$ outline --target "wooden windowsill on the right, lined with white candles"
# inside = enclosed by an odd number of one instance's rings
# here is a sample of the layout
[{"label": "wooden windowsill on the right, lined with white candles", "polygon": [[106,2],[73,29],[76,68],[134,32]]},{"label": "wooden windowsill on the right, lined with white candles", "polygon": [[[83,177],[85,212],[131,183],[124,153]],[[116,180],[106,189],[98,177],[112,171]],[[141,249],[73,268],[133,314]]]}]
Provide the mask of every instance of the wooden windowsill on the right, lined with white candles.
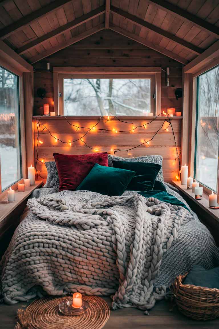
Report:
[{"label": "wooden windowsill on the right, lined with white candles", "polygon": [[193,193],[192,190],[187,190],[186,185],[181,185],[181,182],[178,181],[172,181],[172,185],[183,192],[189,199],[199,205],[199,207],[202,208],[208,215],[219,222],[219,209],[209,208],[209,195],[207,193],[203,191],[202,199],[196,200],[195,193]]}]

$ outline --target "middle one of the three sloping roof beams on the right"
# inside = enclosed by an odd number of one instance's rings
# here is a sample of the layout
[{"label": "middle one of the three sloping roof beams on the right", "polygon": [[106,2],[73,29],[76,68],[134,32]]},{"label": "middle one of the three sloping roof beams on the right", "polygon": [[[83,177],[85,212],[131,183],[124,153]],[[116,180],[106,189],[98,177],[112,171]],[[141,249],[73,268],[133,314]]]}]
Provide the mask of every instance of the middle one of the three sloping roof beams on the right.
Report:
[{"label": "middle one of the three sloping roof beams on the right", "polygon": [[123,17],[125,19],[127,19],[128,21],[130,21],[131,23],[135,24],[135,25],[138,25],[140,27],[144,27],[146,28],[147,30],[151,30],[161,36],[163,36],[164,38],[168,39],[168,40],[171,40],[171,41],[174,41],[178,44],[180,44],[181,46],[183,46],[184,48],[188,49],[189,51],[192,51],[193,53],[197,54],[197,55],[200,55],[201,53],[203,53],[203,49],[199,48],[199,47],[196,47],[195,45],[181,39],[181,38],[178,38],[176,36],[174,36],[173,34],[167,32],[167,31],[164,31],[162,29],[160,29],[159,27],[153,25],[153,24],[150,24],[146,21],[144,21],[143,19],[139,18],[139,17],[136,17],[130,13],[127,13],[127,12],[124,12],[123,10],[119,9],[119,8],[116,8],[116,7],[111,7],[111,12],[114,13],[114,14],[117,14],[119,15],[120,17]]}]

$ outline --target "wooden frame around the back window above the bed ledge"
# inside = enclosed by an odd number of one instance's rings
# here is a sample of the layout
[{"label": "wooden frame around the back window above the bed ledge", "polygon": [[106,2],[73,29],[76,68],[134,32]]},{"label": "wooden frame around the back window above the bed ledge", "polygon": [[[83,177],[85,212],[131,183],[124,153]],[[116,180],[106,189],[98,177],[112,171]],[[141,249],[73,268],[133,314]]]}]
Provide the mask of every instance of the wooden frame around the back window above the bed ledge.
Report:
[{"label": "wooden frame around the back window above the bed ledge", "polygon": [[[151,112],[161,112],[161,67],[54,67],[54,111],[64,115],[63,84],[65,78],[115,78],[115,79],[151,79]],[[61,93],[61,97],[59,97]],[[75,116],[77,117],[77,116]],[[89,117],[88,115],[81,118]],[[94,116],[95,117],[95,116]],[[125,116],[124,116],[125,117]],[[128,116],[127,116],[128,117]],[[137,118],[138,116],[135,116]]]}]

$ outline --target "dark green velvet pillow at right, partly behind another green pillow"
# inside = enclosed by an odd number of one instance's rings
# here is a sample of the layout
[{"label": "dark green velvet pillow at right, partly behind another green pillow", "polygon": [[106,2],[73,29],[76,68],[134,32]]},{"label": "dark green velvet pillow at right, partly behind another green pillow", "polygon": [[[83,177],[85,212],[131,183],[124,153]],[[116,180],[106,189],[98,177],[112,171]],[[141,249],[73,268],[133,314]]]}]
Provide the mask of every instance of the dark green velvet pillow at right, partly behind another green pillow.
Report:
[{"label": "dark green velvet pillow at right, partly behind another green pillow", "polygon": [[160,164],[147,162],[115,161],[113,167],[136,171],[135,176],[127,186],[130,191],[150,191],[153,190],[154,182],[161,169]]}]

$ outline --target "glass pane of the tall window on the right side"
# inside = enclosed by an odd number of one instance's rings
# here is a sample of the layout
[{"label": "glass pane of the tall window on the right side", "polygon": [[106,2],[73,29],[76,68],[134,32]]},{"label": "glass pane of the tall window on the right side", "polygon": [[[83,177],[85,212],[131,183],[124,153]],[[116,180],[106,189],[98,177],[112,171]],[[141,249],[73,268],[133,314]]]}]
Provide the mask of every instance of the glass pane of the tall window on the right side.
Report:
[{"label": "glass pane of the tall window on the right side", "polygon": [[219,149],[219,66],[198,77],[196,178],[217,189]]}]

